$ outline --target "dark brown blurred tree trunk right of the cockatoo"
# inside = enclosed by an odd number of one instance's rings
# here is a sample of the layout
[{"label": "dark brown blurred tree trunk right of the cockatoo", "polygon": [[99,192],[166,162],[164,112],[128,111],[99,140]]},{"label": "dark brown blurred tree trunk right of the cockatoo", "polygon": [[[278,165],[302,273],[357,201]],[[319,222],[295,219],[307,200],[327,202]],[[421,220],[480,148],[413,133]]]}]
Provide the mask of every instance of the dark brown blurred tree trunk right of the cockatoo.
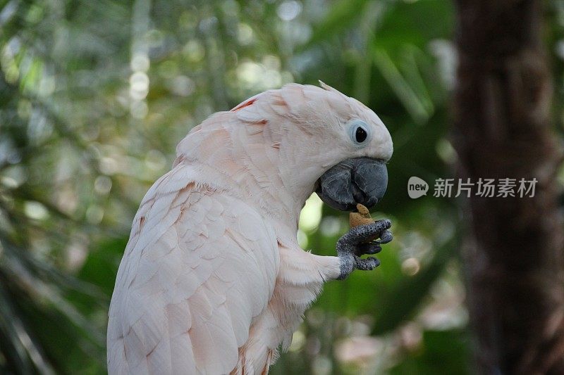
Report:
[{"label": "dark brown blurred tree trunk right of the cockatoo", "polygon": [[472,196],[465,214],[480,374],[564,374],[564,227],[541,1],[457,0],[459,174],[536,177],[532,198]]}]

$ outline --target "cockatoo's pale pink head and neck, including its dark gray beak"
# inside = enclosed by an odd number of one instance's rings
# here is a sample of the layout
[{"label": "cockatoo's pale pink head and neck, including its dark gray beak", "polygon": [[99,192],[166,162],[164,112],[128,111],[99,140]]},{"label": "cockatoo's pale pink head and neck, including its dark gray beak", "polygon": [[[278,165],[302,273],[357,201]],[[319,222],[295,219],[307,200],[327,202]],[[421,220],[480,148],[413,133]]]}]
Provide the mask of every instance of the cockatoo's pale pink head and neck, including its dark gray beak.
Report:
[{"label": "cockatoo's pale pink head and neck, including its dark gray beak", "polygon": [[388,129],[359,101],[323,83],[286,84],[192,129],[176,163],[207,165],[257,204],[299,214],[314,191],[338,210],[376,204],[392,151]]}]

